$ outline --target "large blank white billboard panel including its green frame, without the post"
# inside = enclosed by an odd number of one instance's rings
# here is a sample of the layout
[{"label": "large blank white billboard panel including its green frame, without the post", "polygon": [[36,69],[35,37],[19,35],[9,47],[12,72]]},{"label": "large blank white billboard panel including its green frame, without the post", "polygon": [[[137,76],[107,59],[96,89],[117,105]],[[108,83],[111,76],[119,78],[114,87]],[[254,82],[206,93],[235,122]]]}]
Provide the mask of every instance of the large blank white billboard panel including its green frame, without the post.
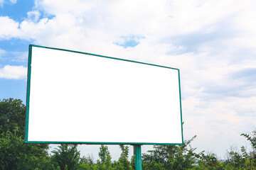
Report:
[{"label": "large blank white billboard panel including its green frame, without the post", "polygon": [[26,142],[182,145],[178,69],[30,45]]}]

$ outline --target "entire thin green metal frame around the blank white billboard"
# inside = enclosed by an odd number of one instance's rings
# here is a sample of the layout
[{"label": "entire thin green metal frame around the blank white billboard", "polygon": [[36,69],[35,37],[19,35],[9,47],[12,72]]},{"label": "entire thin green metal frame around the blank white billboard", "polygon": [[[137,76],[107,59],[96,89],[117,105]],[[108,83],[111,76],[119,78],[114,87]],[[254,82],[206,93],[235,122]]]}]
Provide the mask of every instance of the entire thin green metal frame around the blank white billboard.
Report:
[{"label": "entire thin green metal frame around the blank white billboard", "polygon": [[[182,111],[181,111],[181,136],[182,136],[182,142],[181,143],[145,143],[145,142],[53,142],[53,141],[28,141],[28,116],[29,116],[29,96],[30,96],[30,84],[31,84],[31,55],[32,55],[32,47],[42,47],[42,48],[47,48],[47,49],[52,49],[52,50],[61,50],[61,51],[67,51],[67,52],[75,52],[75,53],[80,53],[84,55],[92,55],[96,57],[105,57],[105,58],[110,58],[114,60],[122,60],[126,62],[134,62],[138,64],[147,64],[151,66],[156,66],[156,67],[164,67],[167,69],[176,69],[172,67],[166,67],[166,66],[160,66],[157,64],[149,64],[145,62],[136,62],[132,60],[124,60],[124,59],[119,59],[115,57],[107,57],[103,55],[95,55],[92,53],[88,52],[78,52],[74,50],[65,50],[65,49],[60,49],[60,48],[55,48],[55,47],[44,47],[41,45],[29,45],[29,52],[28,52],[28,80],[27,80],[27,97],[26,97],[26,135],[25,135],[25,143],[45,143],[45,144],[87,144],[87,145],[183,145],[183,125],[182,125]],[[178,70],[178,85],[179,85],[179,96],[180,96],[180,108],[181,108],[181,82],[180,82],[180,72]]]}]

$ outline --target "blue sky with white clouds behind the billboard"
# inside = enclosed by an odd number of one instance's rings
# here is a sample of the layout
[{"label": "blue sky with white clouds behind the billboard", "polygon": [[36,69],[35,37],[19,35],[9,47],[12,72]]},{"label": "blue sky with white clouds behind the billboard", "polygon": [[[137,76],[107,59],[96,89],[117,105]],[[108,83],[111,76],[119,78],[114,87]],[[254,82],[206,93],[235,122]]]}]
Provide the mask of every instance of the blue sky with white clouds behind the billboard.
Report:
[{"label": "blue sky with white clouds behind the billboard", "polygon": [[[1,99],[25,103],[29,44],[178,68],[184,139],[220,159],[250,149],[240,134],[256,125],[254,0],[0,0]],[[79,149],[98,159],[98,145]]]}]

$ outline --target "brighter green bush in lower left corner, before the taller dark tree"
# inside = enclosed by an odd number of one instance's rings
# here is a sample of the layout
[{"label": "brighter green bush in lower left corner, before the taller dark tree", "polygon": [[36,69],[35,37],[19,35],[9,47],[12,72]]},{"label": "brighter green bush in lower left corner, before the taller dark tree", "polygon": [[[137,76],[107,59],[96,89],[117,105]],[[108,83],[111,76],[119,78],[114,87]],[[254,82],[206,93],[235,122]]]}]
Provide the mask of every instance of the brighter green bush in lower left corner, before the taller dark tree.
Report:
[{"label": "brighter green bush in lower left corner, before the taller dark tree", "polygon": [[48,152],[45,146],[25,144],[16,131],[1,134],[0,150],[0,169],[47,168]]}]

